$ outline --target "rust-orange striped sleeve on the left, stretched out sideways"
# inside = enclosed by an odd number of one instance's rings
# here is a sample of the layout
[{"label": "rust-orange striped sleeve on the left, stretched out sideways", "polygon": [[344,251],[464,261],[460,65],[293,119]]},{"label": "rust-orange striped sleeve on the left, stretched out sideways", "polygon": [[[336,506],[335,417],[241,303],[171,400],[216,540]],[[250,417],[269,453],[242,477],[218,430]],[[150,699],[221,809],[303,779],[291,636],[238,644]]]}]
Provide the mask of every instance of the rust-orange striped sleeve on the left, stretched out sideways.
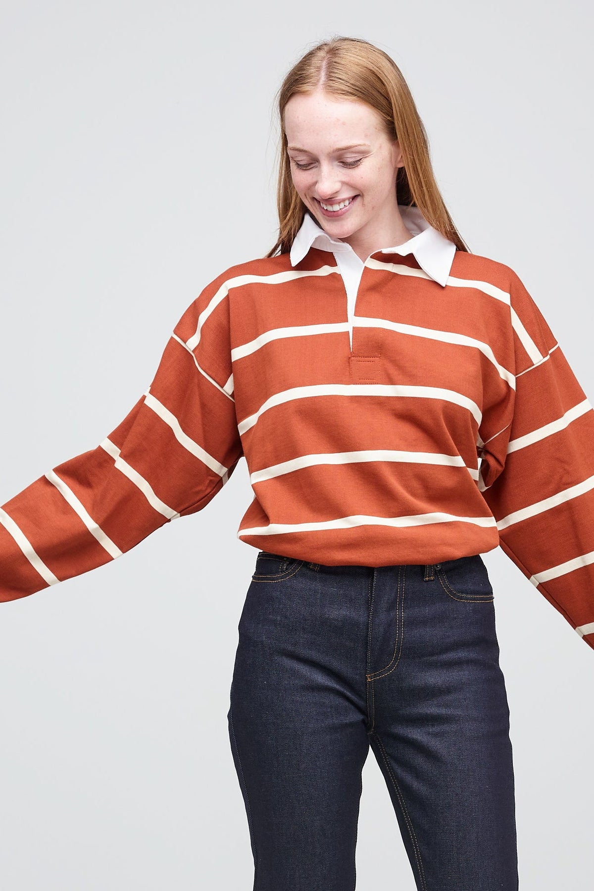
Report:
[{"label": "rust-orange striped sleeve on the left, stretched out sideways", "polygon": [[0,508],[0,601],[114,560],[224,486],[242,447],[219,291],[211,282],[188,307],[150,388],[99,446]]}]

